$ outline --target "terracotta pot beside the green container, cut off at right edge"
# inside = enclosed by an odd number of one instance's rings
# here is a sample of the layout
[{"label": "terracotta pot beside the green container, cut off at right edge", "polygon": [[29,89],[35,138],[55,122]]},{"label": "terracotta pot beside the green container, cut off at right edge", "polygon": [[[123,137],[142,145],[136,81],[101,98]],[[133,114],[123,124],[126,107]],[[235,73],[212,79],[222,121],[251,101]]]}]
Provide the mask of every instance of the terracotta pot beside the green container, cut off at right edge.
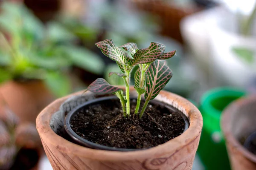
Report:
[{"label": "terracotta pot beside the green container, cut off at right edge", "polygon": [[232,170],[255,170],[256,155],[241,144],[241,139],[256,131],[256,96],[239,99],[224,110],[221,129],[226,138]]}]

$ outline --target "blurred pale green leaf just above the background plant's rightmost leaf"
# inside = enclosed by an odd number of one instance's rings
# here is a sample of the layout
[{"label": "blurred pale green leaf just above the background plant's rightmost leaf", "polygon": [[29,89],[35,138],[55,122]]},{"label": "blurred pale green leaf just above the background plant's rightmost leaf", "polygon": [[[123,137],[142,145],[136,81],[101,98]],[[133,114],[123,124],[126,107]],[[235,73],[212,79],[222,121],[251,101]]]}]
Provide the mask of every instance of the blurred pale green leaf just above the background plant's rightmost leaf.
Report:
[{"label": "blurred pale green leaf just above the background plant's rightmost leaf", "polygon": [[47,33],[48,38],[55,42],[66,42],[76,39],[74,34],[55,22],[48,24]]}]

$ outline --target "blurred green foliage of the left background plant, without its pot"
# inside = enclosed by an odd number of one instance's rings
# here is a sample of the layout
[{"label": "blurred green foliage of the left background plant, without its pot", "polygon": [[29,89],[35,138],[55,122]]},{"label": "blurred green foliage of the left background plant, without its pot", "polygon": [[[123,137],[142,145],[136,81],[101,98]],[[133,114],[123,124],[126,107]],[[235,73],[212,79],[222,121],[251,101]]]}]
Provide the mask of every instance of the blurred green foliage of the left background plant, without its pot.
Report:
[{"label": "blurred green foliage of the left background plant, without its pot", "polygon": [[93,74],[102,74],[104,69],[98,55],[74,46],[74,42],[76,36],[60,24],[44,26],[23,5],[2,3],[0,82],[40,79],[56,96],[68,94],[71,87],[65,73],[73,65]]}]

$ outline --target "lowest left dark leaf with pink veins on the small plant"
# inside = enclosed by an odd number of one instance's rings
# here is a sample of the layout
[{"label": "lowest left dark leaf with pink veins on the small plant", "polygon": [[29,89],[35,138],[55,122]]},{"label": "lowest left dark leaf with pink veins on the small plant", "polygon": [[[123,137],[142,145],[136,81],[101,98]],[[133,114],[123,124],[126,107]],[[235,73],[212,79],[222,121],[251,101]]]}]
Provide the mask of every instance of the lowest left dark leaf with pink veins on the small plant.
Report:
[{"label": "lowest left dark leaf with pink veins on the small plant", "polygon": [[91,91],[96,94],[112,94],[116,91],[122,91],[122,89],[110,85],[105,79],[98,78],[88,86],[86,91]]}]

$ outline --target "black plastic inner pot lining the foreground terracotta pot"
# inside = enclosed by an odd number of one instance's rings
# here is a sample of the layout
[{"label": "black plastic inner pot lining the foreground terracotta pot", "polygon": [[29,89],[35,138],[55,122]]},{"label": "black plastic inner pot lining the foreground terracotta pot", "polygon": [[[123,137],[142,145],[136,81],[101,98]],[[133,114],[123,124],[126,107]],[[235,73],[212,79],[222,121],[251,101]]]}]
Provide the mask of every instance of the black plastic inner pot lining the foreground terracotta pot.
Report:
[{"label": "black plastic inner pot lining the foreground terracotta pot", "polygon": [[[65,118],[64,128],[65,128],[67,134],[73,140],[72,142],[74,142],[76,144],[80,144],[80,145],[85,146],[85,147],[90,147],[90,148],[93,148],[93,149],[100,149],[100,150],[134,151],[134,150],[144,150],[144,149],[147,149],[147,148],[142,148],[142,149],[126,149],[126,148],[109,147],[109,146],[104,146],[104,145],[101,145],[101,144],[96,144],[96,143],[90,142],[90,141],[82,138],[81,136],[79,136],[78,134],[76,134],[72,130],[72,128],[70,126],[70,120],[72,120],[73,117],[76,116],[76,114],[81,109],[83,109],[87,105],[96,105],[96,104],[99,104],[99,103],[101,103],[103,101],[112,100],[112,99],[118,99],[118,98],[116,96],[108,96],[108,97],[101,97],[101,98],[98,98],[98,99],[93,99],[93,100],[90,100],[88,102],[84,102],[82,105],[77,106],[72,111],[70,111],[70,113],[67,114],[67,116]],[[159,102],[157,100],[151,100],[149,103],[156,103],[158,105],[164,105],[170,111],[176,111],[177,113],[180,113],[180,115],[182,116],[182,118],[183,118],[183,120],[185,122],[184,131],[189,128],[189,121],[188,121],[187,117],[182,112],[178,111],[177,109],[173,108],[170,105],[167,105],[167,104],[165,104],[163,102]],[[183,133],[184,133],[184,131],[183,131]]]}]

